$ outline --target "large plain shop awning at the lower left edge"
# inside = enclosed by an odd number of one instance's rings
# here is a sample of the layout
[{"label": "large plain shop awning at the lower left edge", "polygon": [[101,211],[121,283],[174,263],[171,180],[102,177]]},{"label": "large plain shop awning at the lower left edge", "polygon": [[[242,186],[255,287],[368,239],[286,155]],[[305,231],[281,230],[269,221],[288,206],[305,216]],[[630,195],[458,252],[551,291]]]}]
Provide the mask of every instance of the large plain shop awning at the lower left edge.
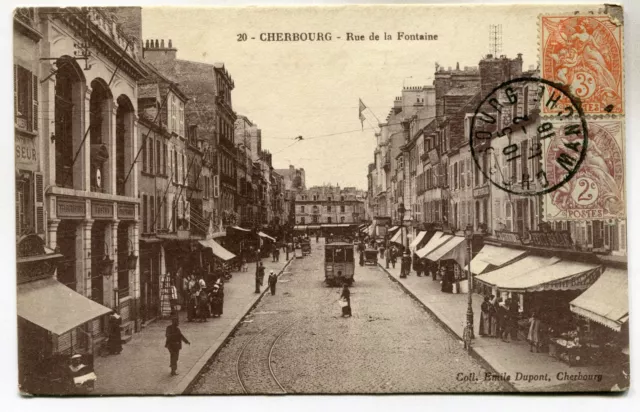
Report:
[{"label": "large plain shop awning at the lower left edge", "polygon": [[109,312],[53,278],[18,285],[18,316],[56,335]]}]

